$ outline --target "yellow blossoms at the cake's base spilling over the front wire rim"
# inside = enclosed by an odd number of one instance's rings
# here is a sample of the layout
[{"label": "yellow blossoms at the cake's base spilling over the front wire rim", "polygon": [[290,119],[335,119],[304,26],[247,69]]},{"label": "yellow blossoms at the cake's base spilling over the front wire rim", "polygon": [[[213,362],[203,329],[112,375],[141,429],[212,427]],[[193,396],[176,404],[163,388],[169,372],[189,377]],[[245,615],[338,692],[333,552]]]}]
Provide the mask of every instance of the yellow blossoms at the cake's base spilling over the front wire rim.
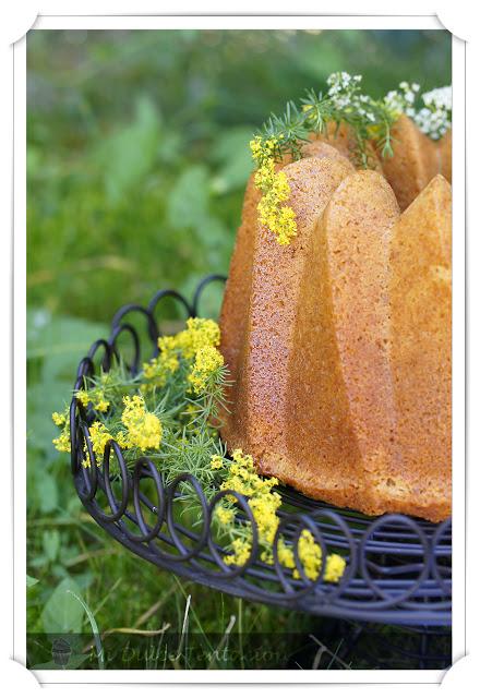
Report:
[{"label": "yellow blossoms at the cake's base spilling over the front wire rim", "polygon": [[[212,456],[211,467],[214,470],[224,467],[221,456]],[[236,449],[232,453],[232,460],[229,462],[228,474],[220,484],[220,490],[235,490],[240,494],[249,497],[250,508],[255,518],[259,542],[265,549],[262,553],[262,559],[272,564],[273,554],[272,545],[275,539],[280,520],[277,516],[277,509],[281,504],[281,497],[278,492],[272,492],[272,489],[278,484],[276,478],[261,478],[253,465],[253,458],[243,455],[242,450]],[[235,497],[232,497],[233,500]],[[226,514],[224,514],[224,512]],[[228,509],[217,508],[217,516],[220,522],[228,525],[231,518],[227,518],[227,514],[232,513]],[[225,557],[227,564],[236,564],[241,566],[247,559],[251,551],[251,543],[244,539],[235,539],[232,541],[233,553]],[[293,577],[300,578],[298,569],[296,569],[293,551],[286,545],[283,538],[278,541],[278,559],[281,565],[293,569]],[[303,529],[299,538],[298,553],[302,563],[305,576],[309,579],[317,579],[322,568],[322,550],[313,534],[308,529]],[[329,582],[337,582],[345,571],[345,559],[337,554],[328,555],[326,558],[326,568],[324,579]]]}]

